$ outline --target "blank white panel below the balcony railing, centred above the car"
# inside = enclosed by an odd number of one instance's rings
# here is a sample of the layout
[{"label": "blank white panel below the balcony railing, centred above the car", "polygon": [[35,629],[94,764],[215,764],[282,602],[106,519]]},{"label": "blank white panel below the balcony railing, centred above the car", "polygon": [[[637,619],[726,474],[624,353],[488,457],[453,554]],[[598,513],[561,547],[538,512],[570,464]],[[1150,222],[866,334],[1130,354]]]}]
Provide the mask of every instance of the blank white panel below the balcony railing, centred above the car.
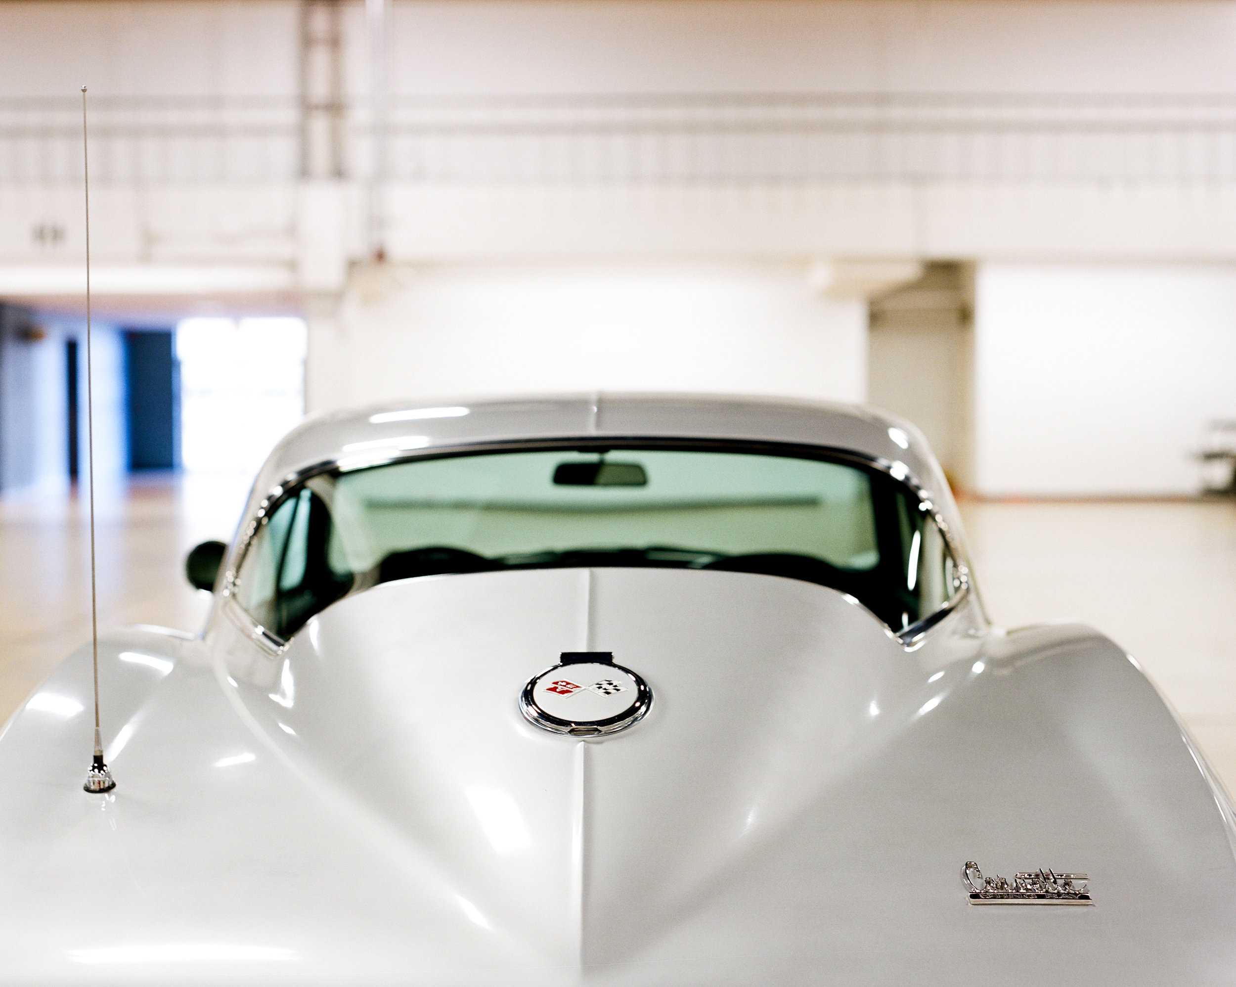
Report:
[{"label": "blank white panel below the balcony railing, centred above the car", "polygon": [[[874,183],[389,189],[387,246],[408,261],[531,256],[905,256],[913,195]],[[1236,246],[1236,245],[1234,245]]]}]

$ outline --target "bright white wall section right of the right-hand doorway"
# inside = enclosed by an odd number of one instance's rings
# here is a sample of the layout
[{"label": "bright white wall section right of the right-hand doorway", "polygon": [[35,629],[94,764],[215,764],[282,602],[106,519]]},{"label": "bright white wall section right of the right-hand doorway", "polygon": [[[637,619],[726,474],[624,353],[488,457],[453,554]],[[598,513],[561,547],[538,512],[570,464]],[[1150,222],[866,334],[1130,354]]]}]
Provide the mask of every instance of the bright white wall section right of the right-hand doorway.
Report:
[{"label": "bright white wall section right of the right-hand doorway", "polygon": [[1236,267],[980,265],[976,489],[1193,494],[1234,371]]}]

